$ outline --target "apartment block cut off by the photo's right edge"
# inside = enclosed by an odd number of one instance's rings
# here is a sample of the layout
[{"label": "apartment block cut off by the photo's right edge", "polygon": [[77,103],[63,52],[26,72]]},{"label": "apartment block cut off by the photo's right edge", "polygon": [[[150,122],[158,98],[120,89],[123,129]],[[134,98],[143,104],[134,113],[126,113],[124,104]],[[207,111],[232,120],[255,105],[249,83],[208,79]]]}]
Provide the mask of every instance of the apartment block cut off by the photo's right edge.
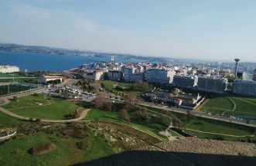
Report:
[{"label": "apartment block cut off by the photo's right edge", "polygon": [[256,97],[256,81],[234,80],[233,93],[237,95]]}]

